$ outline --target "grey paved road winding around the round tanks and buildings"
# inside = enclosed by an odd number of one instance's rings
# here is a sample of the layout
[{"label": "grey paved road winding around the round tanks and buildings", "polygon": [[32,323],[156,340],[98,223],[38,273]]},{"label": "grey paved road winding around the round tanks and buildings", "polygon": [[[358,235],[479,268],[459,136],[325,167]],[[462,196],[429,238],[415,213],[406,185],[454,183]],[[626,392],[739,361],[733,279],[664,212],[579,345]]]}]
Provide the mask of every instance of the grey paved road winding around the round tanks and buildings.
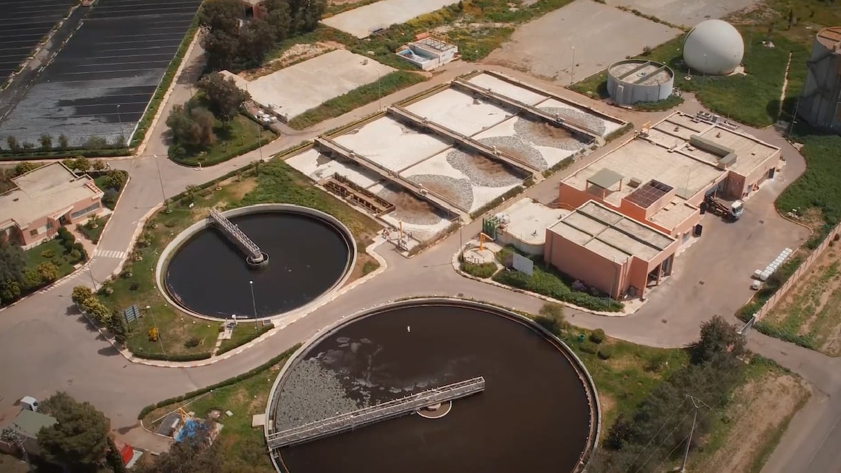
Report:
[{"label": "grey paved road winding around the round tanks and buildings", "polygon": [[[431,83],[445,82],[470,69],[473,69],[473,65],[454,63],[431,82],[421,83],[419,86],[395,93],[385,98],[384,102],[393,103],[431,87]],[[190,68],[187,69],[187,72],[189,71]],[[518,72],[506,72],[526,78]],[[528,78],[528,80],[537,82],[533,78]],[[172,97],[163,110],[163,116],[166,116],[173,104],[181,103],[189,97],[188,83],[189,81],[185,80],[178,81]],[[553,87],[546,86],[546,88]],[[558,90],[558,93],[562,93],[561,90]],[[584,98],[579,99],[584,100]],[[686,106],[688,109],[692,107],[691,104]],[[320,125],[317,130],[283,136],[278,141],[264,146],[263,156],[269,157],[299,141],[316,136],[321,130],[328,130],[336,125],[350,122],[372,113],[375,109],[376,104],[372,104],[338,119],[329,120]],[[657,120],[657,117],[658,114],[650,114],[644,120]],[[641,117],[632,118],[637,121]],[[180,167],[164,157],[167,147],[162,138],[162,128],[165,128],[165,125],[161,121],[151,134],[150,143],[145,148],[143,156],[112,161],[112,167],[128,171],[131,180],[103,233],[99,249],[125,251],[130,246],[138,221],[161,203],[164,191],[167,196],[176,194],[189,183],[204,183],[261,156],[260,151],[251,151],[242,157],[209,169],[195,170]],[[802,159],[799,158],[798,161],[799,155],[796,151],[793,151],[793,148],[781,140],[773,130],[754,130],[753,132],[766,141],[772,141],[784,148],[785,156],[789,157],[789,166],[785,168],[786,179],[791,180],[802,173],[805,168]],[[567,175],[585,162],[601,156],[616,146],[619,141],[586,157],[582,162],[576,163],[573,169],[563,174]],[[561,177],[561,175],[556,175],[547,179],[533,186],[527,194],[543,202],[549,202],[557,193],[556,185]],[[764,200],[768,204],[783,187],[784,185],[769,186],[761,190],[754,199],[760,202]],[[755,207],[759,208],[759,206]],[[765,207],[770,208],[770,205],[765,205]],[[770,210],[763,211],[761,215],[755,215],[755,218],[769,220],[779,217]],[[463,235],[466,237],[476,234],[480,226],[481,221],[465,226]],[[709,238],[706,239],[706,241],[709,240]],[[701,239],[701,242],[704,241]],[[0,367],[0,379],[3,379],[3,383],[0,384],[0,422],[3,417],[13,415],[17,411],[13,404],[20,397],[30,395],[43,398],[53,391],[64,390],[76,396],[77,399],[93,402],[111,418],[112,427],[127,441],[155,450],[158,447],[156,443],[159,443],[160,439],[136,427],[136,415],[141,407],[252,369],[294,343],[304,341],[320,327],[330,325],[341,316],[411,295],[469,297],[532,312],[542,306],[543,301],[532,296],[465,279],[456,274],[452,270],[451,260],[452,254],[458,248],[458,242],[457,234],[411,259],[402,258],[390,247],[383,245],[378,248],[378,252],[388,263],[385,274],[380,274],[368,283],[342,295],[340,302],[334,301],[322,306],[243,353],[217,364],[191,369],[156,368],[132,364],[119,355],[99,336],[98,332],[89,327],[82,317],[71,309],[70,295],[74,285],[91,284],[91,279],[96,281],[105,279],[119,264],[118,258],[94,257],[89,271],[78,272],[65,283],[43,291],[43,294],[24,299],[0,312],[0,353],[3,353],[7,360]],[[691,258],[692,254],[690,252],[685,258]],[[678,263],[680,264],[680,258]],[[709,269],[711,275],[714,275],[716,270],[720,268]],[[613,337],[636,343],[662,347],[683,346],[696,339],[700,322],[719,311],[722,314],[732,314],[734,306],[729,300],[716,297],[715,281],[711,282],[713,287],[706,293],[695,286],[686,293],[680,293],[678,286],[689,286],[689,284],[677,284],[681,277],[692,276],[688,274],[681,276],[678,270],[671,278],[674,282],[670,284],[674,287],[669,290],[655,291],[643,309],[632,316],[604,317],[568,311],[569,319],[580,327],[602,327]],[[727,290],[727,288],[721,289]],[[679,292],[674,294],[674,291]],[[681,300],[683,306],[679,306],[676,310],[674,300]],[[694,302],[696,303],[693,304]],[[690,306],[700,306],[701,310],[684,310]],[[838,394],[841,392],[841,369],[838,369],[841,366],[838,365],[838,360],[828,359],[820,353],[796,348],[754,333],[750,337],[750,347],[796,371],[819,390],[816,396],[812,397],[807,409],[801,411],[792,422],[780,448],[775,451],[769,465],[763,471],[841,470],[835,448],[835,445],[841,442],[841,431],[838,429],[841,404],[837,401]]]}]

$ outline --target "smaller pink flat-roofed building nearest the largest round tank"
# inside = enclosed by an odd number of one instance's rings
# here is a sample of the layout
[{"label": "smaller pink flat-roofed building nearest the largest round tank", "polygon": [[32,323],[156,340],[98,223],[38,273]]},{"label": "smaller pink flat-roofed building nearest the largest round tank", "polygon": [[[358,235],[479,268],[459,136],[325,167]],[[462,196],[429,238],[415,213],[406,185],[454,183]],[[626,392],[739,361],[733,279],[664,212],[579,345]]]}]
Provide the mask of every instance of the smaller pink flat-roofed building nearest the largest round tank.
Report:
[{"label": "smaller pink flat-roofed building nearest the largest round tank", "polygon": [[643,297],[672,272],[678,240],[588,201],[546,230],[543,258],[614,299]]}]

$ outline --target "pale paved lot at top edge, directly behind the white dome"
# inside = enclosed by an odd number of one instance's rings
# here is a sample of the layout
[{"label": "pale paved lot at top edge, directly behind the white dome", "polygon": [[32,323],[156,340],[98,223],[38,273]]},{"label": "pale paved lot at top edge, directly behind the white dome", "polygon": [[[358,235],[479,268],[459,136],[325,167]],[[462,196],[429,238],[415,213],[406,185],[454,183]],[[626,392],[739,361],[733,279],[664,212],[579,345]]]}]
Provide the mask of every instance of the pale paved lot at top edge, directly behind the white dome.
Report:
[{"label": "pale paved lot at top edge, directly behind the white dome", "polygon": [[640,13],[681,24],[690,28],[705,19],[722,18],[727,13],[747,8],[756,0],[606,0],[608,5],[620,5]]}]

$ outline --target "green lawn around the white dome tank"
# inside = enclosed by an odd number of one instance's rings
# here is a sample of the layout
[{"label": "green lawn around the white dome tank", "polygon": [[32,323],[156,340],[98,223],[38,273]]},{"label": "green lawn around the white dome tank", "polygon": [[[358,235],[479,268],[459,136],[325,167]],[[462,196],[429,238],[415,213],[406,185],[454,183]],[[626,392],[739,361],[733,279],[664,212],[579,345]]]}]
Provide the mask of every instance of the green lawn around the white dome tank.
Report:
[{"label": "green lawn around the white dome tank", "polygon": [[[691,79],[686,80],[689,71],[683,63],[681,48],[685,35],[680,35],[653,48],[648,54],[637,57],[670,66],[675,74],[674,87],[695,92],[701,103],[717,114],[747,125],[772,125],[780,116],[780,94],[789,52],[792,53],[793,77],[790,86],[786,88],[787,97],[796,96],[805,82],[806,67],[797,67],[795,61],[801,60],[804,55],[808,56],[808,50],[783,35],[775,35],[775,47],[768,48],[762,45],[766,35],[751,35],[747,29],[742,29],[742,34],[746,43],[743,59],[745,75],[705,77],[692,73]],[[572,89],[593,97],[606,98],[606,81],[606,72],[599,72],[574,84]],[[639,109],[646,109],[645,107],[647,106],[643,105]]]}]

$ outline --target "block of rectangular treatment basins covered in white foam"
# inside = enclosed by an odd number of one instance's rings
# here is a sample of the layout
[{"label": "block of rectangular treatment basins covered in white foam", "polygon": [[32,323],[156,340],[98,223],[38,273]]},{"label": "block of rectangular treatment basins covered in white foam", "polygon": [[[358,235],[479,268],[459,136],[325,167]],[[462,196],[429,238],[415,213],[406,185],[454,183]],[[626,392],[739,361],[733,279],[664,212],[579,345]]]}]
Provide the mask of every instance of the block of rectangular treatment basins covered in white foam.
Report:
[{"label": "block of rectangular treatment basins covered in white foam", "polygon": [[[470,93],[464,82],[500,96]],[[558,122],[532,104],[547,104],[576,120],[566,128],[563,119]],[[586,123],[598,133],[586,135],[573,123]],[[425,242],[459,215],[483,208],[526,178],[539,178],[564,158],[595,148],[603,135],[623,125],[500,74],[479,72],[322,136],[288,163],[315,181],[339,174],[385,199],[394,210],[380,218]]]}]

